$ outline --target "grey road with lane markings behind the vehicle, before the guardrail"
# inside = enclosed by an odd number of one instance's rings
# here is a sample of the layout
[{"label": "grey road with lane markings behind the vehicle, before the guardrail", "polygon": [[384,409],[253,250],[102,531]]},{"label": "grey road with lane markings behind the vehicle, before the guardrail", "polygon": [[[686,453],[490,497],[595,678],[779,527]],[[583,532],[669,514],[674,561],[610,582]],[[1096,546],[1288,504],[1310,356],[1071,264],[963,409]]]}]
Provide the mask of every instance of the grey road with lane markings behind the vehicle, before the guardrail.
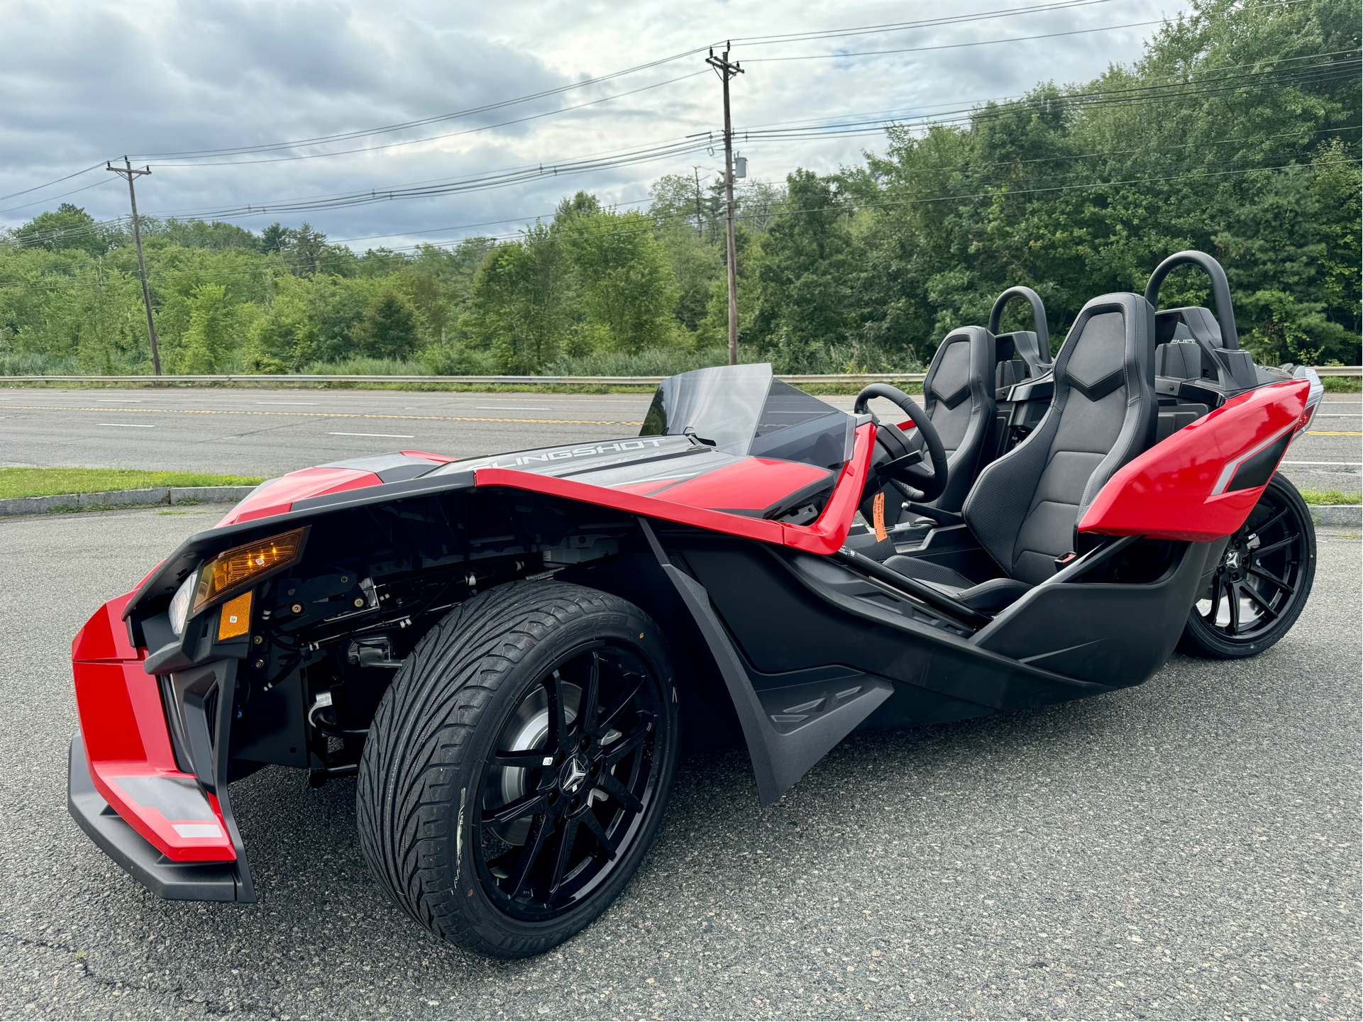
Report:
[{"label": "grey road with lane markings behind the vehicle, before the guardrail", "polygon": [[[634,436],[650,399],[647,394],[4,388],[0,465],[278,476],[393,450],[469,458]],[[851,410],[853,398],[825,401]],[[1302,486],[1358,492],[1360,429],[1360,397],[1326,394],[1314,435],[1292,444],[1284,473]]]}]

